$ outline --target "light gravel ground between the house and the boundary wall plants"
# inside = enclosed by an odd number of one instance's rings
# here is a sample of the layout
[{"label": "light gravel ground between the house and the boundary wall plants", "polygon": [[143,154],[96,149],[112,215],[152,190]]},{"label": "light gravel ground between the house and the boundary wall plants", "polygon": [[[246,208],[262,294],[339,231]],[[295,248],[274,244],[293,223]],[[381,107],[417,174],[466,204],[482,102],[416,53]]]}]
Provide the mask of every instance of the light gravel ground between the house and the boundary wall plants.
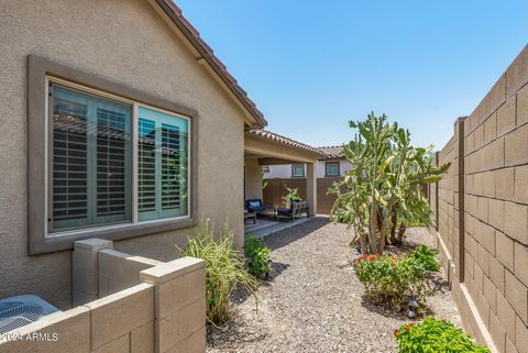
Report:
[{"label": "light gravel ground between the house and the boundary wall plants", "polygon": [[[233,319],[209,328],[207,352],[396,352],[393,331],[410,320],[365,302],[350,265],[359,256],[346,245],[351,236],[322,217],[266,236],[273,279],[257,301],[233,296]],[[425,229],[409,229],[407,240],[435,245]],[[428,307],[460,324],[442,276]]]}]

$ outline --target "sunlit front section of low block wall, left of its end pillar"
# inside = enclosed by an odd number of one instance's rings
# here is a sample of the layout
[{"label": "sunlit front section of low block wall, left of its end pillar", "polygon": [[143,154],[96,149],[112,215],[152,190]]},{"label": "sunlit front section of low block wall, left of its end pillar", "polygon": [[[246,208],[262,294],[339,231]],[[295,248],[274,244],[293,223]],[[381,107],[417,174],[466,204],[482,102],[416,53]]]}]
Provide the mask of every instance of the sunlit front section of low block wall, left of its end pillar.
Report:
[{"label": "sunlit front section of low block wall, left of its end pillar", "polygon": [[154,286],[141,284],[11,331],[0,351],[154,353]]}]

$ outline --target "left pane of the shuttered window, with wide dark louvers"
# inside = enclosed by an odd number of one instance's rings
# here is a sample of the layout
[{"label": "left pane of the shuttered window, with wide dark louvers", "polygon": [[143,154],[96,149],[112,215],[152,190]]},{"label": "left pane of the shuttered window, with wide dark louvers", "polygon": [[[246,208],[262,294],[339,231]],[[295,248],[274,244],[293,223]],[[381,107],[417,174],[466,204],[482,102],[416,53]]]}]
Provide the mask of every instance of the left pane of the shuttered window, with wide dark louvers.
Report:
[{"label": "left pane of the shuttered window, with wide dark louvers", "polygon": [[132,107],[51,86],[50,230],[132,220]]}]

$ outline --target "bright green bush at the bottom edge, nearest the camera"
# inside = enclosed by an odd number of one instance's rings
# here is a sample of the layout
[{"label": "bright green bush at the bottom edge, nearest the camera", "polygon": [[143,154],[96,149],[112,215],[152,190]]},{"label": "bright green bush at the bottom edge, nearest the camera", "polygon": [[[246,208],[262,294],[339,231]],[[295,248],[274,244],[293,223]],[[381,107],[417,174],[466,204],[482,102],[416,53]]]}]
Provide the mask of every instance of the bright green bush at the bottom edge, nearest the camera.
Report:
[{"label": "bright green bush at the bottom edge, nearest the camera", "polygon": [[394,331],[399,353],[490,353],[476,345],[461,329],[449,321],[425,319],[422,323],[406,323]]}]

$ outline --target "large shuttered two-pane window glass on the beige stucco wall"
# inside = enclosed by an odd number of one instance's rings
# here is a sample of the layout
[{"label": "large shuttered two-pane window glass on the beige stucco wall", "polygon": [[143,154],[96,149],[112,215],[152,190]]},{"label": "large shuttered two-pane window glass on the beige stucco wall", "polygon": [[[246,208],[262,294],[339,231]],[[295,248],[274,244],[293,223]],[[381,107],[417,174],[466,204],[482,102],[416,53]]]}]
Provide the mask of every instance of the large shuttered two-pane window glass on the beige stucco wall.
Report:
[{"label": "large shuttered two-pane window glass on the beige stucco wall", "polygon": [[187,118],[55,82],[50,107],[50,233],[189,214]]}]

